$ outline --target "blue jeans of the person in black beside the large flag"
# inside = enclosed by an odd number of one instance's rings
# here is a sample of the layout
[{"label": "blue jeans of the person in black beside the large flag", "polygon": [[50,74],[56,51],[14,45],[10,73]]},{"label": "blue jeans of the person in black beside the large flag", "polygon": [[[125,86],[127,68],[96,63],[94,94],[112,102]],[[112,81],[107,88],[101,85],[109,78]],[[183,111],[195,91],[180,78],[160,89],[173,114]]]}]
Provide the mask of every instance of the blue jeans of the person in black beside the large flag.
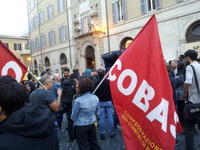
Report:
[{"label": "blue jeans of the person in black beside the large flag", "polygon": [[99,134],[103,135],[106,133],[106,116],[108,119],[108,133],[109,135],[114,134],[114,120],[113,120],[113,105],[111,101],[100,102],[100,119],[99,119]]}]

